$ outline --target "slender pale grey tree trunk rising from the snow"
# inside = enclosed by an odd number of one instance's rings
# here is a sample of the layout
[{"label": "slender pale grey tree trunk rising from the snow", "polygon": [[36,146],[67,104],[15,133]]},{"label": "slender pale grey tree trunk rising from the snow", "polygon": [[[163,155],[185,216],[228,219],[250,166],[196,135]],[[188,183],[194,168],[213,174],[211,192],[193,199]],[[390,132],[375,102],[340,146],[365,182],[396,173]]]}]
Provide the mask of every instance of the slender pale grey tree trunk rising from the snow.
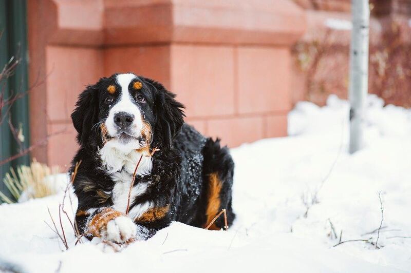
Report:
[{"label": "slender pale grey tree trunk rising from the snow", "polygon": [[353,153],[363,146],[363,116],[368,92],[368,0],[351,0],[352,32],[350,48],[349,101],[350,144]]}]

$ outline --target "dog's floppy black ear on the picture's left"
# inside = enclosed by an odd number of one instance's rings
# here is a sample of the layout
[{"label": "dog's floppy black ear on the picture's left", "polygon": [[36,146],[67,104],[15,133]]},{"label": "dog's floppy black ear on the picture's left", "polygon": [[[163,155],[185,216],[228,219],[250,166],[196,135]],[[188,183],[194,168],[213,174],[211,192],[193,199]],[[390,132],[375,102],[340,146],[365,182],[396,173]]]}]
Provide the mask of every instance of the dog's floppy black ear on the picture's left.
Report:
[{"label": "dog's floppy black ear on the picture's left", "polygon": [[85,147],[88,146],[89,135],[91,128],[98,122],[99,110],[99,93],[96,86],[89,85],[79,95],[79,100],[76,103],[76,108],[71,113],[71,120],[74,128],[76,128],[77,141]]}]

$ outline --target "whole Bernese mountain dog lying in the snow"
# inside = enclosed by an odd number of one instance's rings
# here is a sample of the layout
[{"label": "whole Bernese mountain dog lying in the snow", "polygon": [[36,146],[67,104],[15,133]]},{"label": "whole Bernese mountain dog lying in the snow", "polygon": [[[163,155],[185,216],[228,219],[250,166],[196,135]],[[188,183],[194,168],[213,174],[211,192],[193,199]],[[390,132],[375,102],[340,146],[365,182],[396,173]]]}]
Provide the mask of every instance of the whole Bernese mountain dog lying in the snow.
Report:
[{"label": "whole Bernese mountain dog lying in the snow", "polygon": [[[79,95],[71,119],[80,149],[69,171],[78,165],[76,222],[88,239],[145,240],[172,221],[206,227],[222,209],[233,222],[229,150],[184,124],[175,96],[133,73]],[[220,217],[210,229],[223,227]]]}]

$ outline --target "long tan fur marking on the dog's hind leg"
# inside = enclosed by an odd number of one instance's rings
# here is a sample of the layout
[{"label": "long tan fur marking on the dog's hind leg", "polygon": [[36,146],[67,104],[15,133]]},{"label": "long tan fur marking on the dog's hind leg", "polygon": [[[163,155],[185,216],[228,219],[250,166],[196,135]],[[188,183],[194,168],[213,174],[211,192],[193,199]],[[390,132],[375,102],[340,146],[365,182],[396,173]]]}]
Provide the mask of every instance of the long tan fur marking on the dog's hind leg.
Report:
[{"label": "long tan fur marking on the dog's hind leg", "polygon": [[[207,221],[203,225],[203,227],[207,227],[207,225],[213,220],[213,218],[217,215],[220,211],[220,191],[221,191],[221,181],[218,178],[216,172],[210,174],[209,178],[209,191],[208,191],[208,204],[206,210]],[[219,230],[215,223],[213,223],[210,228],[211,230]]]}]

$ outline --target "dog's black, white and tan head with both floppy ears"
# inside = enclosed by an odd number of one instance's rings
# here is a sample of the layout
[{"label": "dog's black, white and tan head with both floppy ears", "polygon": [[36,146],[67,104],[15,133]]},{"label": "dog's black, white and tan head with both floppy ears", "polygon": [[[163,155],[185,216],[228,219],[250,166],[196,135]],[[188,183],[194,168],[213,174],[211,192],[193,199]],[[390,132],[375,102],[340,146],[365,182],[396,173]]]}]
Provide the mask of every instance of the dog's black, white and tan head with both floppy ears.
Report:
[{"label": "dog's black, white and tan head with both floppy ears", "polygon": [[110,143],[124,152],[171,147],[183,124],[184,106],[160,83],[132,73],[103,77],[87,86],[71,114],[83,147]]}]

